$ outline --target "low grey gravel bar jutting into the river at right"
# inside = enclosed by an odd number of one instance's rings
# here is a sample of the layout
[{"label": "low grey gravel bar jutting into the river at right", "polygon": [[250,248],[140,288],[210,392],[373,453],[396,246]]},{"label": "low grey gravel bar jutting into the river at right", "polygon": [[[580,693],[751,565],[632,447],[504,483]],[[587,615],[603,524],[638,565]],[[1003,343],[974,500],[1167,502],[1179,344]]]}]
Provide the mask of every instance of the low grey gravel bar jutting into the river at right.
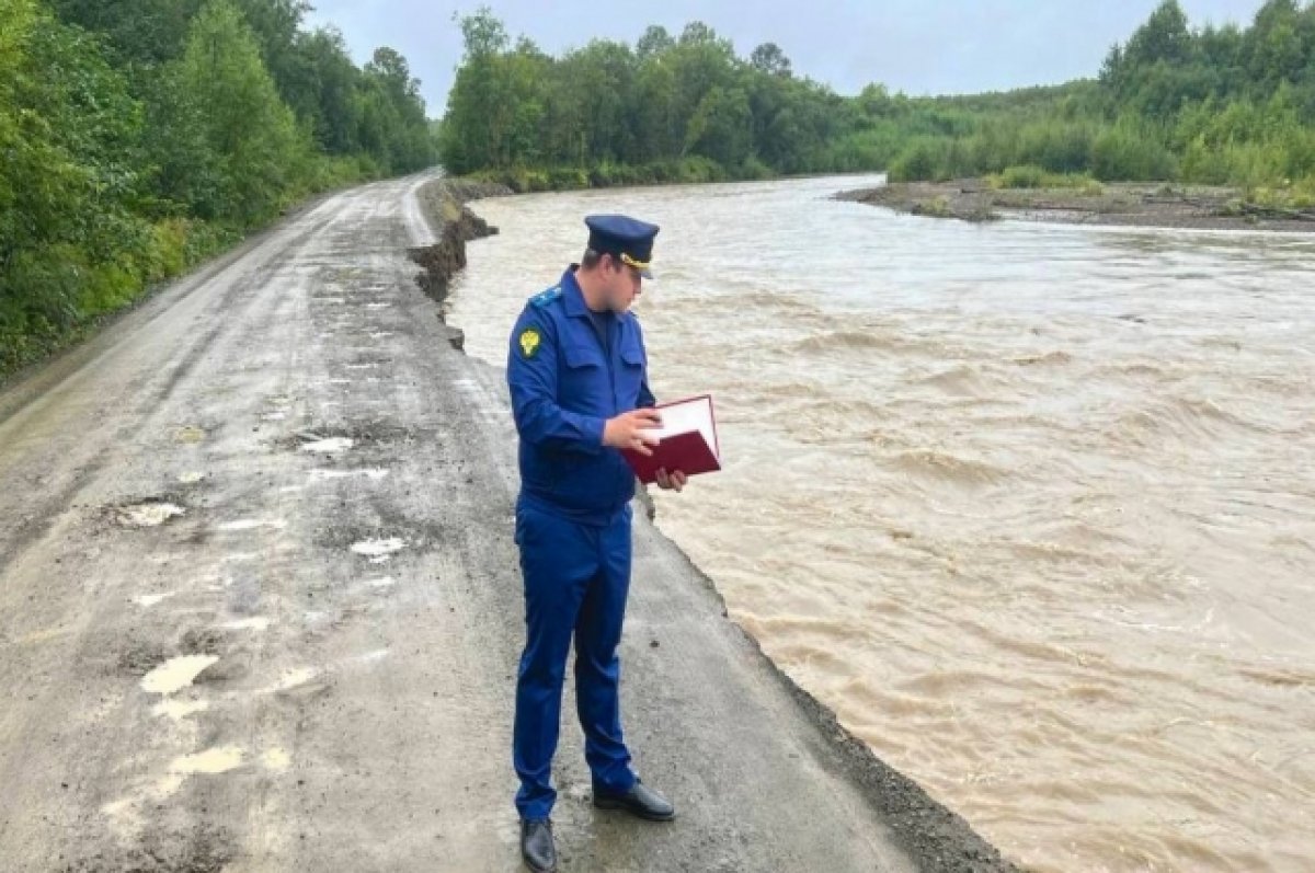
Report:
[{"label": "low grey gravel bar jutting into the river at right", "polygon": [[988,222],[1040,221],[1124,227],[1315,233],[1315,209],[1247,201],[1235,188],[1090,183],[1074,188],[993,188],[982,179],[890,183],[846,191],[836,200],[913,216]]}]

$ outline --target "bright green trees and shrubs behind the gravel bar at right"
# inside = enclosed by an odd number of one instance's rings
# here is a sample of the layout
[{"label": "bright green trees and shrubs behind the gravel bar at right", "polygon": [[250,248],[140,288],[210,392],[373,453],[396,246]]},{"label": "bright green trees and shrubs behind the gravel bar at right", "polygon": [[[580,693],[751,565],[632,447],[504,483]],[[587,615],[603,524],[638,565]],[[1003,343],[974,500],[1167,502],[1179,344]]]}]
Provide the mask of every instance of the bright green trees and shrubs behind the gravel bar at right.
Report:
[{"label": "bright green trees and shrubs behind the gravel bar at right", "polygon": [[1027,164],[1101,180],[1181,180],[1315,197],[1315,3],[1268,0],[1248,28],[1193,30],[1165,0],[1095,82],[924,104],[896,179]]}]

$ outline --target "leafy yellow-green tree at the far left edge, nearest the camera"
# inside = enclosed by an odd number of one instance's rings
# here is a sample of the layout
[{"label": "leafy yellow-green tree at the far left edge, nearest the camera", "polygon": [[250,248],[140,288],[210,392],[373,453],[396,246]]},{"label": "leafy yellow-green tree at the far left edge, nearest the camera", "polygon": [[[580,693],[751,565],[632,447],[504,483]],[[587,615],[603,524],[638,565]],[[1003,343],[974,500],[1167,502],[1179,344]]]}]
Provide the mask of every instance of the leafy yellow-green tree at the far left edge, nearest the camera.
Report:
[{"label": "leafy yellow-green tree at the far left edge, nearest the camera", "polygon": [[0,371],[145,270],[141,110],[85,32],[0,0]]}]

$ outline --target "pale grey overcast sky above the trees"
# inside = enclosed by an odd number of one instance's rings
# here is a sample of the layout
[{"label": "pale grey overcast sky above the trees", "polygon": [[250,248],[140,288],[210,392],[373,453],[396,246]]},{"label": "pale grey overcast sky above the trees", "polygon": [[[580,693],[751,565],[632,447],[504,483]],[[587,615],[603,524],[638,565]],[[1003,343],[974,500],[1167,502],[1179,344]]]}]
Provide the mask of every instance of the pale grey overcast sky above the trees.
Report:
[{"label": "pale grey overcast sky above the trees", "polygon": [[[421,79],[429,114],[443,114],[462,39],[452,13],[479,0],[312,0],[313,25],[337,25],[359,62],[397,49]],[[1261,0],[1181,0],[1193,25],[1248,24]],[[496,0],[513,37],[556,54],[593,37],[634,41],[650,24],[679,34],[706,21],[747,55],[776,42],[797,74],[857,93],[869,82],[910,95],[997,91],[1093,76],[1110,46],[1159,0]]]}]

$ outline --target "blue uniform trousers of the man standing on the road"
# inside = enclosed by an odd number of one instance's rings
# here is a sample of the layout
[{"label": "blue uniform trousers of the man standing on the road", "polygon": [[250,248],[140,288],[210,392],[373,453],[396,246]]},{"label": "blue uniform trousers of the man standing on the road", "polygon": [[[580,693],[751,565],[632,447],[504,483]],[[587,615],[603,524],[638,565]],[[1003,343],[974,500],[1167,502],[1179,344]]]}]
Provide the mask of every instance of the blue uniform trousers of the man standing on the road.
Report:
[{"label": "blue uniform trousers of the man standing on the road", "polygon": [[604,526],[584,525],[522,500],[515,543],[525,578],[526,644],[515,686],[513,759],[523,819],[552,811],[552,755],[562,722],[562,684],[575,638],[576,713],[596,793],[623,794],[635,776],[621,735],[617,646],[630,589],[627,505]]}]

